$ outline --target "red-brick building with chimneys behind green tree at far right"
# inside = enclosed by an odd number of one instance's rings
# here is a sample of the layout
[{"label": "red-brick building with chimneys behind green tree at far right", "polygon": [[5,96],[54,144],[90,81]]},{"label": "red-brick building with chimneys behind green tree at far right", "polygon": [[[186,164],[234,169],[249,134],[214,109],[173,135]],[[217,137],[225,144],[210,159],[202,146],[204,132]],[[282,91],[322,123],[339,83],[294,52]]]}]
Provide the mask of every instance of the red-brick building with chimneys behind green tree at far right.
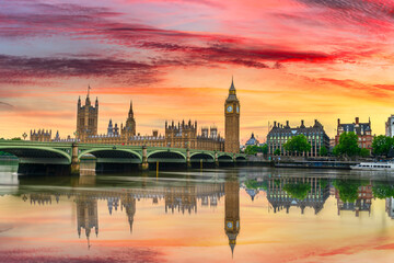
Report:
[{"label": "red-brick building with chimneys behind green tree at far right", "polygon": [[335,136],[335,145],[339,144],[339,137],[343,133],[355,133],[358,136],[359,147],[372,150],[372,129],[371,119],[368,123],[360,123],[359,117],[351,124],[341,124],[338,118],[337,135]]}]

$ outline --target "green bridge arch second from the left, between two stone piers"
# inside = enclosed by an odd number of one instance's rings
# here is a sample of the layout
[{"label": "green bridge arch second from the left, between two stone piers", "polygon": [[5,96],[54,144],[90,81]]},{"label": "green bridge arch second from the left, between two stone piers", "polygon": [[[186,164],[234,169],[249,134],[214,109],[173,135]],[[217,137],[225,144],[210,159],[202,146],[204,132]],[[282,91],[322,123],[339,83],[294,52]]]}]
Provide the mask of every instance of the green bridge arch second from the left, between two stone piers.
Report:
[{"label": "green bridge arch second from the left, between two stone piers", "polygon": [[142,156],[135,150],[129,149],[112,149],[112,148],[93,148],[89,150],[83,150],[78,155],[78,159],[81,159],[84,155],[92,155],[96,158],[111,158],[111,159],[138,159],[138,162],[142,162]]}]

